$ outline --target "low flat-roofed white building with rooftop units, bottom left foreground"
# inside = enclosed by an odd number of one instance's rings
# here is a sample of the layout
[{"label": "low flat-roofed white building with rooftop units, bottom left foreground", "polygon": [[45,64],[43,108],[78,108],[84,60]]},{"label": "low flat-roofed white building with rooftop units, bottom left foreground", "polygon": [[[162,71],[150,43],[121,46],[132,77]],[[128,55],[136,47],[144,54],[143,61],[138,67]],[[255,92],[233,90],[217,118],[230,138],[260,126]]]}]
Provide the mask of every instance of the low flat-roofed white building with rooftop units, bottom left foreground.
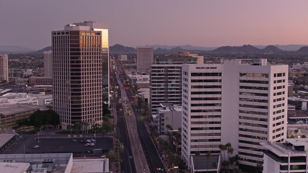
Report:
[{"label": "low flat-roofed white building with rooftop units, bottom left foreground", "polygon": [[0,155],[2,173],[111,173],[109,159],[73,159],[72,153]]}]

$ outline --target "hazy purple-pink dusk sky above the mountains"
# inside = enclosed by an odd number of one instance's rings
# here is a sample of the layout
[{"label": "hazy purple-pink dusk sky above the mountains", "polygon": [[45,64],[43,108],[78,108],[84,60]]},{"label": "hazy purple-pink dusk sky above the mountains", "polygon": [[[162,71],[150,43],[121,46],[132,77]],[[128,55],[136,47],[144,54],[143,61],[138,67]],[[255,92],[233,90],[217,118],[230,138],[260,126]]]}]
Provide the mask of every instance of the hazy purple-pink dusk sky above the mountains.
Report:
[{"label": "hazy purple-pink dusk sky above the mountains", "polygon": [[94,20],[109,46],[308,44],[307,0],[1,0],[0,45],[51,46],[51,31]]}]

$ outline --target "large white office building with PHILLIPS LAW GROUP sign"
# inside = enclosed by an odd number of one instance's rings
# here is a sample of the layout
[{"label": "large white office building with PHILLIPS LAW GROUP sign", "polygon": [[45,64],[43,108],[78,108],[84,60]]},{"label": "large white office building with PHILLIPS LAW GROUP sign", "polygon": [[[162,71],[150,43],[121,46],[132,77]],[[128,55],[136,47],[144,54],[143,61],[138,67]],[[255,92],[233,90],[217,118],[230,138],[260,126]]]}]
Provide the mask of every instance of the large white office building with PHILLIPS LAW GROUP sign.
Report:
[{"label": "large white office building with PHILLIPS LAW GROUP sign", "polygon": [[181,147],[189,169],[196,151],[220,155],[226,143],[239,155],[240,168],[255,167],[263,163],[259,143],[286,138],[287,65],[228,61],[183,64],[182,71]]}]

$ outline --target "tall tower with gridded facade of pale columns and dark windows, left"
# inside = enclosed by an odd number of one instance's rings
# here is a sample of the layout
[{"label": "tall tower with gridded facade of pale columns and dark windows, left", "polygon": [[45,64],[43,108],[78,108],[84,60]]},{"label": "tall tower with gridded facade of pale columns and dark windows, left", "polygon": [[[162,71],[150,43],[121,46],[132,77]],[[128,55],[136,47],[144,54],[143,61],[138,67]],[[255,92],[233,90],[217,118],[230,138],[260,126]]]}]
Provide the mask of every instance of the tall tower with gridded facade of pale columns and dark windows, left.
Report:
[{"label": "tall tower with gridded facade of pale columns and dark windows, left", "polygon": [[53,109],[62,129],[76,122],[102,123],[103,32],[70,24],[51,35]]}]

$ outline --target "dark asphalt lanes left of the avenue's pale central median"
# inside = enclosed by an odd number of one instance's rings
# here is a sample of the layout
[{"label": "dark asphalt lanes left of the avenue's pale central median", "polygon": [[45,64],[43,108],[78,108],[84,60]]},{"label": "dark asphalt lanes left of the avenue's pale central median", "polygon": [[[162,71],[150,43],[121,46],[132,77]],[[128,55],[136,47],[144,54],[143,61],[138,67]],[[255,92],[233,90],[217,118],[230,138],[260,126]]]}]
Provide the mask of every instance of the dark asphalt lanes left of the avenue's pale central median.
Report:
[{"label": "dark asphalt lanes left of the avenue's pale central median", "polygon": [[[116,84],[119,86],[117,80]],[[117,89],[118,96],[121,95],[121,90]],[[121,101],[117,101],[116,103],[116,112],[117,112],[117,127],[120,130],[120,139],[123,140],[123,145],[120,146],[120,157],[122,162],[120,162],[121,172],[129,172],[129,173],[135,173],[136,167],[134,163],[134,158],[132,155],[132,148],[131,143],[129,140],[128,132],[127,132],[127,126],[125,123],[125,116],[123,111],[120,111],[120,108],[123,110],[123,106],[121,104]]]}]

